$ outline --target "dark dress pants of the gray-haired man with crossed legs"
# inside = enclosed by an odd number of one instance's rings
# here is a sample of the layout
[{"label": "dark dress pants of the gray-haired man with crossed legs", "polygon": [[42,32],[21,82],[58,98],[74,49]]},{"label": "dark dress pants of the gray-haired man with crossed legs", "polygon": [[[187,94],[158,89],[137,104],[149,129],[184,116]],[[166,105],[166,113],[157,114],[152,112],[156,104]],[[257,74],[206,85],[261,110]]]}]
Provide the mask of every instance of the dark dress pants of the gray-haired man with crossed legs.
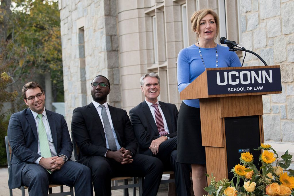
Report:
[{"label": "dark dress pants of the gray-haired man with crossed legs", "polygon": [[178,195],[191,195],[190,171],[191,165],[177,163],[177,137],[170,138],[160,144],[158,153],[153,157],[159,158],[163,163],[165,171],[172,170],[175,172],[176,192]]}]

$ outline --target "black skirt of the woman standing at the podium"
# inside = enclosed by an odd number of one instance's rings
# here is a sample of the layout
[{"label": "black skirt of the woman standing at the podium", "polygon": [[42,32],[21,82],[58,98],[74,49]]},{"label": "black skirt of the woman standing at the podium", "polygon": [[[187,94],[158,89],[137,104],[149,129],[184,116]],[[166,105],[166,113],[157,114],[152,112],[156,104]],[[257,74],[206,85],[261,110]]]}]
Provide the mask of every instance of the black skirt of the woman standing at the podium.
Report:
[{"label": "black skirt of the woman standing at the podium", "polygon": [[202,146],[200,109],[184,102],[178,115],[177,124],[177,162],[206,164],[205,147]]}]

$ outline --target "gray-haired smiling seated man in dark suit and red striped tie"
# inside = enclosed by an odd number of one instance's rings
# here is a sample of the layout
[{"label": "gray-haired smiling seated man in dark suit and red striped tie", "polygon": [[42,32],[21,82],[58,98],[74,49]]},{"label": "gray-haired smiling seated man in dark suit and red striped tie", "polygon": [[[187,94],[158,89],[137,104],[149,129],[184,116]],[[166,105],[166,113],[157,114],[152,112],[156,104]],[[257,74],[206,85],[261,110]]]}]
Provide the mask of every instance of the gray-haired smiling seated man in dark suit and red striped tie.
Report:
[{"label": "gray-haired smiling seated man in dark suit and red striped tie", "polygon": [[191,195],[190,171],[187,164],[177,163],[176,105],[158,101],[160,78],[155,73],[141,77],[145,100],[130,110],[130,118],[139,144],[139,153],[159,158],[164,170],[175,172],[178,195]]}]

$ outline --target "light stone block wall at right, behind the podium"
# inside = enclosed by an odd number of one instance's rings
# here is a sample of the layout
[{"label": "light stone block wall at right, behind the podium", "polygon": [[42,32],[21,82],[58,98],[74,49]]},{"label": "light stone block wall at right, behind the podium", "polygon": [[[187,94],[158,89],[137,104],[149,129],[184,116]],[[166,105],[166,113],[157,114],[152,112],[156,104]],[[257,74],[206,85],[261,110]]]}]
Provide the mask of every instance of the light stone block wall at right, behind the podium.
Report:
[{"label": "light stone block wall at right, behind the podium", "polygon": [[[290,144],[294,144],[293,10],[293,0],[240,1],[241,45],[268,65],[281,67],[282,93],[263,96],[265,141]],[[245,65],[263,63],[247,54]]]}]

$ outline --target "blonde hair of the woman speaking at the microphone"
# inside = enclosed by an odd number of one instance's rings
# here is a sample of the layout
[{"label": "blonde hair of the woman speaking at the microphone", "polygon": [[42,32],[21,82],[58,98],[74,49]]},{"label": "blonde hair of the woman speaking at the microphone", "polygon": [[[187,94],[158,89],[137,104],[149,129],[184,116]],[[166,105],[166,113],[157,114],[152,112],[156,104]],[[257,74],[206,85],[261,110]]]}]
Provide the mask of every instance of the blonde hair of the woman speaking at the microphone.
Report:
[{"label": "blonde hair of the woman speaking at the microphone", "polygon": [[219,33],[219,27],[220,27],[220,22],[219,22],[219,18],[218,15],[212,10],[212,9],[201,9],[198,11],[195,11],[191,17],[191,29],[192,31],[196,31],[197,32],[197,36],[198,32],[199,32],[199,26],[200,26],[200,21],[207,15],[207,14],[211,14],[214,18],[214,21],[216,22],[216,36],[214,38],[216,38],[218,36]]}]

